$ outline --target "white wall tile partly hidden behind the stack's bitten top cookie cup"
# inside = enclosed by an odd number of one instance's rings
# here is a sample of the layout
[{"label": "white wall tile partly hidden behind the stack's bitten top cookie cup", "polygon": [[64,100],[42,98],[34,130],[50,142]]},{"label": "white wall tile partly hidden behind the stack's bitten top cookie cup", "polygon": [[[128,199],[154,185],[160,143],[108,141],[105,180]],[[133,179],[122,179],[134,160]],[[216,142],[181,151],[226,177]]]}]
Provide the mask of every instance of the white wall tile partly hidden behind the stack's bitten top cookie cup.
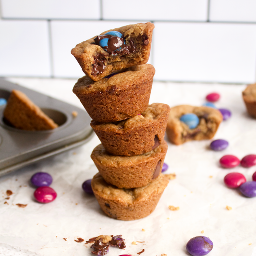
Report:
[{"label": "white wall tile partly hidden behind the stack's bitten top cookie cup", "polygon": [[[137,23],[129,21],[129,24]],[[70,53],[78,43],[95,37],[108,29],[127,25],[127,22],[103,21],[52,21],[53,70],[56,77],[84,76],[80,65]],[[151,63],[151,60],[148,61]]]}]

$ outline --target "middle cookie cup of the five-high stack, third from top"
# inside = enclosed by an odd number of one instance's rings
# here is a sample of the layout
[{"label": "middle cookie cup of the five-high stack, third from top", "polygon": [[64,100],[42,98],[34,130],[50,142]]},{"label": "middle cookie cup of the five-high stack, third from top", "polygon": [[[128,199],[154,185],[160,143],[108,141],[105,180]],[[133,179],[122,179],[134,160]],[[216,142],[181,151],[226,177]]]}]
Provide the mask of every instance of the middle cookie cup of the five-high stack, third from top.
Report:
[{"label": "middle cookie cup of the five-high stack, third from top", "polygon": [[140,115],[120,122],[91,122],[91,127],[111,155],[136,156],[149,152],[164,140],[170,107],[149,105]]}]

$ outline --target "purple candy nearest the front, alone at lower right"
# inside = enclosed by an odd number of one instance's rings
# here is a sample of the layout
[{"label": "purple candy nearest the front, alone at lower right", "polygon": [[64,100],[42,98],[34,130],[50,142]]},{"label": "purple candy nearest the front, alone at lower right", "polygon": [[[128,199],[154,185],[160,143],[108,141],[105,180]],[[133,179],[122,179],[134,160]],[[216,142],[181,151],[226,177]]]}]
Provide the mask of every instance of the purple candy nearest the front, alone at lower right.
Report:
[{"label": "purple candy nearest the front, alone at lower right", "polygon": [[187,245],[187,251],[193,256],[207,255],[213,248],[212,241],[206,236],[196,236],[191,238]]}]

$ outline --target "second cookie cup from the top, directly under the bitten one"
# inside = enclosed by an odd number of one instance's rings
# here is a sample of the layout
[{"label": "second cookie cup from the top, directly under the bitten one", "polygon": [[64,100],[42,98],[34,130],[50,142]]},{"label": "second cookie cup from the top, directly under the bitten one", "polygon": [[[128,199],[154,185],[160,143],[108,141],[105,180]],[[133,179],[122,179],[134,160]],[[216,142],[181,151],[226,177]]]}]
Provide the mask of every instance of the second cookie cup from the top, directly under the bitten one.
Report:
[{"label": "second cookie cup from the top, directly under the bitten one", "polygon": [[121,121],[146,110],[154,74],[155,68],[144,64],[97,82],[84,76],[74,85],[73,93],[92,120]]}]

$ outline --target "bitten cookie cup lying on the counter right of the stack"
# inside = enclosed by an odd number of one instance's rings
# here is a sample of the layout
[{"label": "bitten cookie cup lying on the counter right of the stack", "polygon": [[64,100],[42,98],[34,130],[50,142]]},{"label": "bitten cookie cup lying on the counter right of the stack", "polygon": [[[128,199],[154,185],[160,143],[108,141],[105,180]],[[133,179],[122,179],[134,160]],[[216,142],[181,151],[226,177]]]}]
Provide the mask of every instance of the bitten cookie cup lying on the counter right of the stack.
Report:
[{"label": "bitten cookie cup lying on the counter right of the stack", "polygon": [[[199,124],[193,129],[189,129],[188,125],[180,120],[187,113],[193,113],[199,118]],[[191,140],[211,139],[217,132],[220,122],[222,114],[219,110],[180,105],[171,108],[166,133],[169,141],[175,145]]]}]

